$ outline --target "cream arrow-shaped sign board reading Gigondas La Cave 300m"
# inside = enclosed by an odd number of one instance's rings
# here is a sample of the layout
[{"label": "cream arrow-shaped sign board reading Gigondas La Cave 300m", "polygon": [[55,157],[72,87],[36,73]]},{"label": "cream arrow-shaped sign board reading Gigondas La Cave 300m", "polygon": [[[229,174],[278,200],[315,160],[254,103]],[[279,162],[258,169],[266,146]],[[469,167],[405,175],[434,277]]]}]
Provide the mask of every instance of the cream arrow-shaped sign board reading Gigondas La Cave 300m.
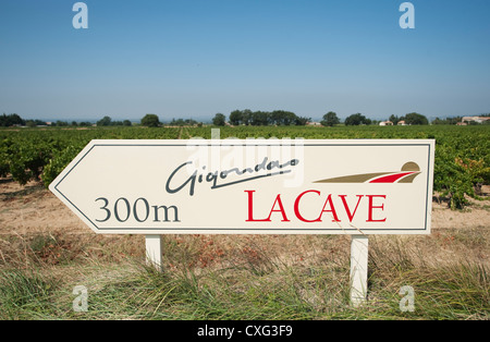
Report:
[{"label": "cream arrow-shaped sign board reading Gigondas La Cave 300m", "polygon": [[93,141],[50,185],[108,234],[429,234],[434,141]]}]

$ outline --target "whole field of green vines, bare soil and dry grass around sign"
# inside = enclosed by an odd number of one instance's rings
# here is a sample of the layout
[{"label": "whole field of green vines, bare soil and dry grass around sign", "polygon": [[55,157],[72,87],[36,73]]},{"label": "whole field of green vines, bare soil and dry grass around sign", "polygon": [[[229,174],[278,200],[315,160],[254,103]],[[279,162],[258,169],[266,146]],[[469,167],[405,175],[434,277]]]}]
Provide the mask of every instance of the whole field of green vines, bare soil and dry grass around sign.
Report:
[{"label": "whole field of green vines, bare soil and dry grass around sign", "polygon": [[[372,236],[368,303],[348,303],[350,237],[96,235],[46,190],[94,138],[210,127],[0,130],[0,319],[489,319],[490,127],[223,127],[220,137],[434,138],[432,234]],[[73,309],[85,286],[88,310]],[[415,310],[400,307],[414,289]]]}]

